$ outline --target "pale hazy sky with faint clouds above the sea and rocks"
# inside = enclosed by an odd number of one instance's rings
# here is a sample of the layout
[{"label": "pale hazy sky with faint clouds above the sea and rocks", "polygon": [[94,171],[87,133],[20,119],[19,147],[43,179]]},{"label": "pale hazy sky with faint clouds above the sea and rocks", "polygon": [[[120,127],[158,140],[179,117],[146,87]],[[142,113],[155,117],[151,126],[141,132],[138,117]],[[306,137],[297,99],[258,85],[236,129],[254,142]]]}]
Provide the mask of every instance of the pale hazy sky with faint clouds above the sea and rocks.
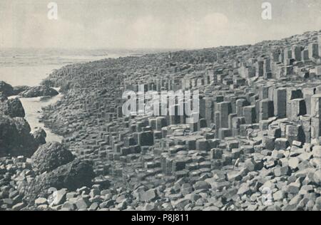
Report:
[{"label": "pale hazy sky with faint clouds above the sea and rocks", "polygon": [[271,20],[263,2],[0,0],[0,48],[209,48],[321,30],[320,0],[267,0]]}]

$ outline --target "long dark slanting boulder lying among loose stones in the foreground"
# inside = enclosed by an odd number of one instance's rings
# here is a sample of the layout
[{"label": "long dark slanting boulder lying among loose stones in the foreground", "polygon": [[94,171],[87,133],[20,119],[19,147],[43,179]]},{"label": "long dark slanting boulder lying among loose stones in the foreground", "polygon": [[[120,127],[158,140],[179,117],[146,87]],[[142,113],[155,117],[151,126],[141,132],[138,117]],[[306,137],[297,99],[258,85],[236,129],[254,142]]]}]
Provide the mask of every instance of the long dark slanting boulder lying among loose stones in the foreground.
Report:
[{"label": "long dark slanting boulder lying among loose stones in the foreground", "polygon": [[32,203],[38,197],[48,197],[49,189],[74,191],[80,187],[91,187],[95,177],[93,165],[79,159],[36,177],[24,188],[26,201]]}]

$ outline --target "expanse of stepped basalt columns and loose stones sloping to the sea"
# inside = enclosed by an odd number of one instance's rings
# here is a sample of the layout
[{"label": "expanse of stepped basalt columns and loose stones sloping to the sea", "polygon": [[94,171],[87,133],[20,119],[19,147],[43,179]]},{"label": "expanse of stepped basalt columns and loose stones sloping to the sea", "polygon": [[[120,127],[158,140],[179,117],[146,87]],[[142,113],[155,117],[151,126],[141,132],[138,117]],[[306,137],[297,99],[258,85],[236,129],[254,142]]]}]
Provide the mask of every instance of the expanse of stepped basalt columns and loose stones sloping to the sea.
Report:
[{"label": "expanse of stepped basalt columns and loose stones sloping to the sea", "polygon": [[[91,187],[76,189],[67,185],[70,177],[56,182],[56,172],[41,174],[35,181],[46,185],[29,191],[33,197],[41,192],[34,204],[63,210],[320,210],[318,35],[56,70],[44,83],[61,86],[65,95],[44,109],[43,119],[65,136],[63,145],[78,160],[93,162],[96,178],[91,186],[91,176],[83,175]],[[139,97],[136,113],[133,107],[125,115],[126,90],[198,90],[199,118],[158,113],[155,101]],[[164,111],[179,112],[188,101],[163,98]],[[148,103],[154,115],[143,112]],[[73,164],[65,167],[58,171]],[[56,204],[44,192],[51,185],[61,189]]]}]

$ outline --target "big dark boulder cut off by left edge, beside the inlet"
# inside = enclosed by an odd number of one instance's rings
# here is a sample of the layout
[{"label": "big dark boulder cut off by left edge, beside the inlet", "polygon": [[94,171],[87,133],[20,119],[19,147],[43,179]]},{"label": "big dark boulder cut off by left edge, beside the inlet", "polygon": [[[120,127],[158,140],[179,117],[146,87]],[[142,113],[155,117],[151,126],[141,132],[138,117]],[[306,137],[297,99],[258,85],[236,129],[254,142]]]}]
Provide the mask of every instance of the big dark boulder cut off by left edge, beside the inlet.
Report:
[{"label": "big dark boulder cut off by left edge, beside the inlet", "polygon": [[24,118],[11,118],[0,113],[0,157],[31,157],[38,145],[30,132],[29,123]]}]

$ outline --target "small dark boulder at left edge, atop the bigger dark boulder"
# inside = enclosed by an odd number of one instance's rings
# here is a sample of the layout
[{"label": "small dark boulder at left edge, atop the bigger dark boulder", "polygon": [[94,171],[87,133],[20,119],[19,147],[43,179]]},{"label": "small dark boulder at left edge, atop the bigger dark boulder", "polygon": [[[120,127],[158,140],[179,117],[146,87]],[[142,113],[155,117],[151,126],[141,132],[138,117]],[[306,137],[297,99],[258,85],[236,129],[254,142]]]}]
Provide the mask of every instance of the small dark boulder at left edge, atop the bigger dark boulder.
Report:
[{"label": "small dark boulder at left edge, atop the bigger dark boulder", "polygon": [[25,117],[24,107],[19,98],[0,100],[0,113],[9,117]]}]

